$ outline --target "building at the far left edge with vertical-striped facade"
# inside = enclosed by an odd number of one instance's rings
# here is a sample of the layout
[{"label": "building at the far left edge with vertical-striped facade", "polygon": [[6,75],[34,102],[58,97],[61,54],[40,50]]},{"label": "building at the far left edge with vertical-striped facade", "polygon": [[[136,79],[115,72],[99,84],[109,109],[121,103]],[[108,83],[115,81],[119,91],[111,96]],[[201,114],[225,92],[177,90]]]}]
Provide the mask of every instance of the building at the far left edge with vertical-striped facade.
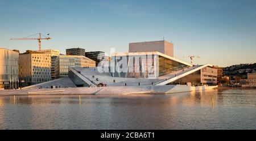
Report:
[{"label": "building at the far left edge with vertical-striped facade", "polygon": [[0,89],[18,88],[19,53],[0,48]]}]

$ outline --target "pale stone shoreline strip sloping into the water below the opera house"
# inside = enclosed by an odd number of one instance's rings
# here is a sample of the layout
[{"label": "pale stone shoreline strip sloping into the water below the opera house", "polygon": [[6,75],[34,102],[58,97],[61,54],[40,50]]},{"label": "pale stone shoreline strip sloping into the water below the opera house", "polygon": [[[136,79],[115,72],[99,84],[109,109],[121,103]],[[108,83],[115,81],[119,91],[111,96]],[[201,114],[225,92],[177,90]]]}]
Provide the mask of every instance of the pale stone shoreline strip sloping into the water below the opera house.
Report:
[{"label": "pale stone shoreline strip sloping into the water below the opera house", "polygon": [[38,95],[165,95],[169,93],[207,91],[217,86],[189,87],[181,85],[130,86],[130,87],[77,87],[55,89],[16,89],[2,90],[0,96],[38,96]]}]

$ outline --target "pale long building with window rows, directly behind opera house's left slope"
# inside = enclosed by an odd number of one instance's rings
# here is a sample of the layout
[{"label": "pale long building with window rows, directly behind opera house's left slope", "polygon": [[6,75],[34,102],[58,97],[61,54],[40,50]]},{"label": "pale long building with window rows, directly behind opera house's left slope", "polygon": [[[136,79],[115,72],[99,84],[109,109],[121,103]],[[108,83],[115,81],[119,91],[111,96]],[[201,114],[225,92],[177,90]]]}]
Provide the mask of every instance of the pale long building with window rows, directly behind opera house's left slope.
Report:
[{"label": "pale long building with window rows, directly behind opera house's left slope", "polygon": [[60,55],[56,58],[57,78],[68,76],[68,67],[96,67],[96,62],[82,55]]}]

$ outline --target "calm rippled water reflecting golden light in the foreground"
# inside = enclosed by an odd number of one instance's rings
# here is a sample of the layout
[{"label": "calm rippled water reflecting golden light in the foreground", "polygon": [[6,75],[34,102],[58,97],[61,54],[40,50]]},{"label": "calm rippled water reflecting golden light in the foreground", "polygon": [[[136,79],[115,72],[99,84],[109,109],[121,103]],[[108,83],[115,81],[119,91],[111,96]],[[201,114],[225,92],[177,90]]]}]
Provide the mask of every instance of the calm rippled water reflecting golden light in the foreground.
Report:
[{"label": "calm rippled water reflecting golden light in the foreground", "polygon": [[256,129],[256,89],[0,97],[0,129]]}]

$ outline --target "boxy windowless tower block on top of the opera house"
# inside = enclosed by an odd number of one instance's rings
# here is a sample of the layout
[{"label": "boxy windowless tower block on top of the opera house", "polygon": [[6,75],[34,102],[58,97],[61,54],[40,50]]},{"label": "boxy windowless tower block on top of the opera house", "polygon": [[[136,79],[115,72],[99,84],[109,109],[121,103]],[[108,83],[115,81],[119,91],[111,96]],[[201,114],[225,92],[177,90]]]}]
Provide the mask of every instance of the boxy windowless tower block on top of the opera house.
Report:
[{"label": "boxy windowless tower block on top of the opera house", "polygon": [[145,41],[129,44],[129,52],[160,52],[174,57],[174,44],[168,41]]}]

